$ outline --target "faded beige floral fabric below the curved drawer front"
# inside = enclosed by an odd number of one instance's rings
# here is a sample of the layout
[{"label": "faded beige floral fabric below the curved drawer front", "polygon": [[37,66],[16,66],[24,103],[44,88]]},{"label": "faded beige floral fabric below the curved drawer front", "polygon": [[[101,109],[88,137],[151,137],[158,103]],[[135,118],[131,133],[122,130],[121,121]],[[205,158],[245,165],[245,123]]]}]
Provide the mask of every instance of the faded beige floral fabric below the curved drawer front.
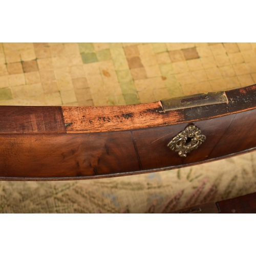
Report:
[{"label": "faded beige floral fabric below the curved drawer front", "polygon": [[256,153],[158,173],[83,181],[1,181],[0,212],[164,213],[256,191]]}]

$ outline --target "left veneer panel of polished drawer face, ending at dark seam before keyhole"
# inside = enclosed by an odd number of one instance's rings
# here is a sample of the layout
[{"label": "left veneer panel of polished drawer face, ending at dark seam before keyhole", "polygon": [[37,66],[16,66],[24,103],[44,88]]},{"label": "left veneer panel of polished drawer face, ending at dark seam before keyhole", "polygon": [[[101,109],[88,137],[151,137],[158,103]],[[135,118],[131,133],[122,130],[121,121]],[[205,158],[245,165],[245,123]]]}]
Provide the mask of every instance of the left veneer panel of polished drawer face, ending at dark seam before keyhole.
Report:
[{"label": "left veneer panel of polished drawer face, ending at dark seam before keyhole", "polygon": [[102,177],[140,163],[131,132],[0,135],[0,177]]}]

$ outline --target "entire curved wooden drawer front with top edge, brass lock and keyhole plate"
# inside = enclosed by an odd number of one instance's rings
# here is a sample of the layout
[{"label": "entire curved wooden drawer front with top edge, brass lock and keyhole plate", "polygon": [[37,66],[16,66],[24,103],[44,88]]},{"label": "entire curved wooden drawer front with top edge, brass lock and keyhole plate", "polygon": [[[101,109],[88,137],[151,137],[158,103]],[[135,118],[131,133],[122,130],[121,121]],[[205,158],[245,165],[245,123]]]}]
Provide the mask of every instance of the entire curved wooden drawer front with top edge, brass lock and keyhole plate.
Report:
[{"label": "entire curved wooden drawer front with top edge, brass lock and keyhole plate", "polygon": [[126,106],[0,106],[0,179],[155,172],[256,147],[256,86]]}]

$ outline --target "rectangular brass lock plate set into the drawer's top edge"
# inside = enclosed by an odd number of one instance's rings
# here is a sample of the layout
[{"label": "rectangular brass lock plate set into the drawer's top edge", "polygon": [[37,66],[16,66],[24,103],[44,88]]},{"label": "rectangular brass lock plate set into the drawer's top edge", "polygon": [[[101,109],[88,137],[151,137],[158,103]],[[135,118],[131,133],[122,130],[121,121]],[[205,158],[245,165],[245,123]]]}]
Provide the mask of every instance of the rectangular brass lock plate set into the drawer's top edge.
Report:
[{"label": "rectangular brass lock plate set into the drawer's top edge", "polygon": [[164,111],[193,108],[194,106],[205,106],[212,104],[227,103],[225,92],[201,93],[189,96],[182,96],[171,99],[162,99]]}]

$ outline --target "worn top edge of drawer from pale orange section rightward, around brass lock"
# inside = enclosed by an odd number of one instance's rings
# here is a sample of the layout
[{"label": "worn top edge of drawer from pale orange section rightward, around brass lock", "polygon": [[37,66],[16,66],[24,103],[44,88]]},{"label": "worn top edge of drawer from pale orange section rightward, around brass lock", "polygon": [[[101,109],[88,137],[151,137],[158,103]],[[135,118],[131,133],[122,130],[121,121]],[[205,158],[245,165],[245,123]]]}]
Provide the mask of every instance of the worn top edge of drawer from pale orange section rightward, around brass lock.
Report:
[{"label": "worn top edge of drawer from pale orange section rightward, around brass lock", "polygon": [[256,108],[256,86],[226,92],[228,103],[164,111],[161,102],[127,106],[62,106],[67,133],[144,129],[230,115]]}]

